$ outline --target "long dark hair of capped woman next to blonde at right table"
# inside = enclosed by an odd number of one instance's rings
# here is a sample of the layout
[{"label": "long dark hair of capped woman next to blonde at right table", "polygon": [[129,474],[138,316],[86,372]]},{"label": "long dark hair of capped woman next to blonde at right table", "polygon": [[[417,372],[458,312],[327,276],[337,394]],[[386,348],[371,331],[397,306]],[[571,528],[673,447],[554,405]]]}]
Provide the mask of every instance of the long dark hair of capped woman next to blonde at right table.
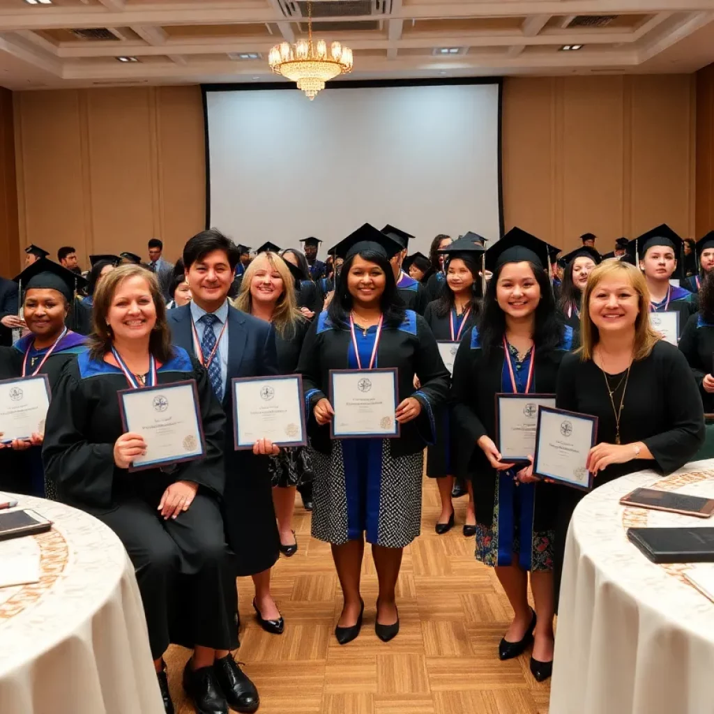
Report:
[{"label": "long dark hair of capped woman next to blonde at right table", "polygon": [[[548,273],[534,263],[528,264],[531,266],[535,280],[538,281],[538,286],[540,286],[540,302],[535,308],[533,344],[539,350],[552,350],[558,347],[563,340],[563,322],[555,313],[555,298],[553,298],[553,291],[550,289]],[[503,271],[503,266],[496,268],[493,278],[488,281],[486,297],[483,298],[483,308],[478,318],[478,336],[486,358],[493,348],[501,345],[503,336],[506,334],[506,313],[501,310],[496,298],[496,285],[501,271]]]}]

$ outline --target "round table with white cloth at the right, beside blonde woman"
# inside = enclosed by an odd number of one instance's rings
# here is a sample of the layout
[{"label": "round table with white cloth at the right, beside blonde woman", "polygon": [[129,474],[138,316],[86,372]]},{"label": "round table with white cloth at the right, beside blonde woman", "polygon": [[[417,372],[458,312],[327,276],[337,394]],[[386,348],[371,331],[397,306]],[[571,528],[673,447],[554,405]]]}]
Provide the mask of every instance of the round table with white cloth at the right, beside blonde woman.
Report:
[{"label": "round table with white cloth at the right, beside blonde woman", "polygon": [[620,506],[640,486],[714,496],[714,460],[665,477],[632,473],[578,504],[565,543],[550,714],[714,711],[714,603],[683,578],[692,565],[652,563],[626,535],[712,524]]}]

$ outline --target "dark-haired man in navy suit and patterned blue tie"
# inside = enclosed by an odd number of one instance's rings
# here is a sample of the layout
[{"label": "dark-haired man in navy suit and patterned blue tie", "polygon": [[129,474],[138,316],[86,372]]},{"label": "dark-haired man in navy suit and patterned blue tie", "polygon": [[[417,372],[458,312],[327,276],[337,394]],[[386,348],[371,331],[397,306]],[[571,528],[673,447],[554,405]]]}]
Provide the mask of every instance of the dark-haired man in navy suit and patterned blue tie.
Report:
[{"label": "dark-haired man in navy suit and patterned blue tie", "polygon": [[[226,411],[223,521],[228,545],[236,554],[236,575],[253,575],[253,606],[258,617],[276,623],[280,620],[282,628],[282,618],[270,595],[270,568],[278,559],[280,538],[266,463],[266,455],[277,453],[278,448],[261,439],[253,453],[235,450],[231,390],[234,377],[278,373],[275,331],[270,323],[228,303],[238,258],[238,248],[219,231],[202,231],[193,236],[183,248],[183,265],[193,299],[188,305],[170,310],[168,321],[174,344],[203,363]],[[222,693],[231,708],[239,712],[258,708],[255,686],[230,654],[216,660],[213,674],[213,690]],[[198,679],[187,667],[184,687],[197,703],[206,701],[208,696],[198,687]],[[213,712],[208,706],[206,710]]]}]

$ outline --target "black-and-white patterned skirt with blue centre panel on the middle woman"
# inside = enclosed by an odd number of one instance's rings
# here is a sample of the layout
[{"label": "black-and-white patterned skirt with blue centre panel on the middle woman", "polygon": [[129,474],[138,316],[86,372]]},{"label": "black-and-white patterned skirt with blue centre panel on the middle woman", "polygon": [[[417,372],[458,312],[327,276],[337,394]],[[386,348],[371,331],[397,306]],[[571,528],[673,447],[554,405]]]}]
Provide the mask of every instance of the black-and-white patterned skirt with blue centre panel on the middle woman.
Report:
[{"label": "black-and-white patterned skirt with blue centre panel on the middle woman", "polygon": [[329,454],[311,449],[313,538],[404,548],[419,535],[423,452],[393,458],[389,442],[336,439]]}]

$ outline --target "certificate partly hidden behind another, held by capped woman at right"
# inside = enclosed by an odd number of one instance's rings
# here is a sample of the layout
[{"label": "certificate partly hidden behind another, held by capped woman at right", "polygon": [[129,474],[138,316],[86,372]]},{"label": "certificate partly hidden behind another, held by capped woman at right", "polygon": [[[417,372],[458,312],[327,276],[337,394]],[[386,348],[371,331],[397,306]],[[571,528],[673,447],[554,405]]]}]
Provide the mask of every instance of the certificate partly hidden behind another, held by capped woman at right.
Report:
[{"label": "certificate partly hidden behind another, held by capped woman at right", "polygon": [[496,446],[501,461],[528,461],[528,455],[533,456],[541,406],[555,406],[555,394],[496,394]]}]

